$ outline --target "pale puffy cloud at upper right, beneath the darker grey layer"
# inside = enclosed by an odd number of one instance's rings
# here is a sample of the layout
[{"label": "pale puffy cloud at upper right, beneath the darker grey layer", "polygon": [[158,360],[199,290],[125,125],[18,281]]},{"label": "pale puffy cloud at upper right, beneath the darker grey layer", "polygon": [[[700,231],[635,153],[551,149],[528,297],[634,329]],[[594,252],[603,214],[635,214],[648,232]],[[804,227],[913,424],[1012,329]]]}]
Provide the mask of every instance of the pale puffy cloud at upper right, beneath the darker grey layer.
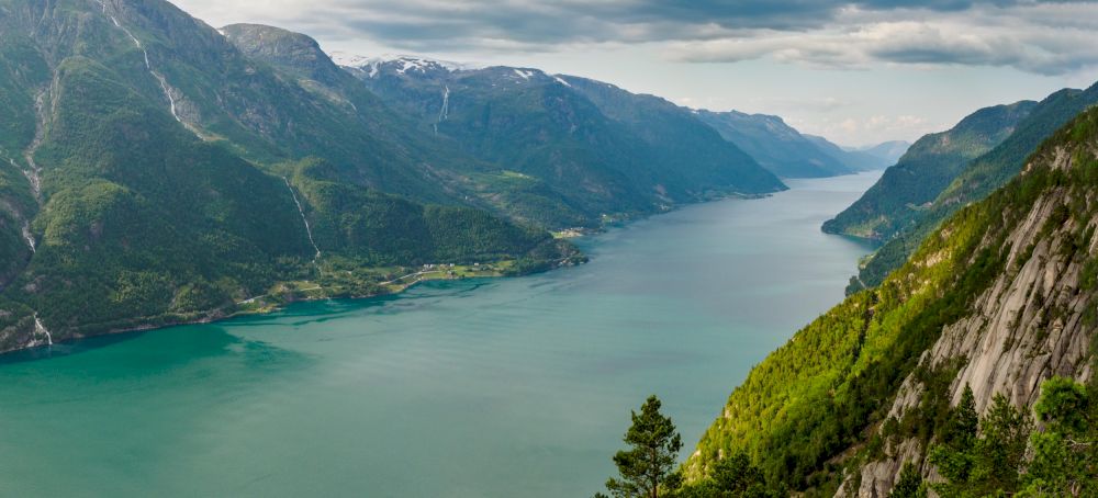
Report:
[{"label": "pale puffy cloud at upper right, beneath the darker grey layer", "polygon": [[[666,56],[691,63],[771,57],[817,67],[860,69],[885,63],[912,66],[1013,67],[1062,75],[1098,66],[1098,4],[1027,4],[964,12],[850,11],[807,33],[755,32],[735,38],[675,42]],[[896,18],[917,20],[897,21]],[[918,19],[922,18],[922,19]]]}]

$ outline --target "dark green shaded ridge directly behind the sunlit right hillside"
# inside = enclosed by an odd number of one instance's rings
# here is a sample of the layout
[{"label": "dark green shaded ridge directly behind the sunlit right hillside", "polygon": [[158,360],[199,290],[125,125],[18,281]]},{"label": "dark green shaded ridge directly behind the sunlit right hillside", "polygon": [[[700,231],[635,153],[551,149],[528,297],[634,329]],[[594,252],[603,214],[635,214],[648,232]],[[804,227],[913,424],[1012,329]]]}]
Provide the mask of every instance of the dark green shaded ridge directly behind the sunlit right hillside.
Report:
[{"label": "dark green shaded ridge directly behind the sunlit right hillside", "polygon": [[849,291],[877,285],[918,248],[920,241],[962,206],[979,201],[1013,178],[1030,151],[1055,129],[1098,103],[1098,86],[1087,90],[1057,91],[1019,121],[1000,145],[970,161],[907,227],[899,230],[864,262]]}]

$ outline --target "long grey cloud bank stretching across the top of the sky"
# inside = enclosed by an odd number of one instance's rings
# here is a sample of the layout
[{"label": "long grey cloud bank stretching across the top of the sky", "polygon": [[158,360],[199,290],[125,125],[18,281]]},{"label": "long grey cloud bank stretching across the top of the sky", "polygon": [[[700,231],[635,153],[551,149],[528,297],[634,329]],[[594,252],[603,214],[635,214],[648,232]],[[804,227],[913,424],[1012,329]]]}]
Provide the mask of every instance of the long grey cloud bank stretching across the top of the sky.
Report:
[{"label": "long grey cloud bank stretching across the top of the sky", "polygon": [[658,43],[672,60],[810,67],[1098,64],[1098,3],[1040,0],[181,0],[221,19],[410,52],[554,52]]}]

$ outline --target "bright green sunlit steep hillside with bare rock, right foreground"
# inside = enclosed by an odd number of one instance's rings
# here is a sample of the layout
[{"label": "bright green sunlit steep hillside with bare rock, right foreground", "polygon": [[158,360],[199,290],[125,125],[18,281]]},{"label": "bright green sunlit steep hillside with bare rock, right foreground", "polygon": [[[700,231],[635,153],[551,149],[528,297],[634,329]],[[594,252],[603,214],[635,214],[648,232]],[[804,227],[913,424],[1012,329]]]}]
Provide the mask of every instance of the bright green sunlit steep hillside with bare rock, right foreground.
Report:
[{"label": "bright green sunlit steep hillside with bare rock, right foreground", "polygon": [[[993,283],[1039,280],[1043,272],[1022,269],[1044,264],[1047,254],[1063,261],[1055,267],[1066,269],[1064,279],[1080,279],[1068,286],[1074,297],[1064,297],[1082,307],[1062,308],[1058,296],[1028,295],[1033,308],[1026,316],[1044,318],[1019,330],[1046,335],[1049,326],[1040,324],[1071,321],[1080,324],[1073,330],[1084,333],[1082,340],[1093,338],[1094,313],[1085,303],[1098,291],[1096,144],[1098,112],[1090,111],[1041,145],[1024,174],[944,222],[878,287],[848,297],[752,369],[687,461],[687,476],[698,482],[720,455],[743,452],[770,483],[831,496],[844,468],[854,472],[879,457],[882,441],[871,434],[886,421],[907,377],[921,384],[921,398],[886,433],[914,438],[922,448],[937,441],[951,381],[959,365],[976,359],[950,356],[949,349],[931,354],[931,346],[948,326],[999,306],[978,298]],[[1017,337],[1013,344],[1037,351],[1041,340]]]}]

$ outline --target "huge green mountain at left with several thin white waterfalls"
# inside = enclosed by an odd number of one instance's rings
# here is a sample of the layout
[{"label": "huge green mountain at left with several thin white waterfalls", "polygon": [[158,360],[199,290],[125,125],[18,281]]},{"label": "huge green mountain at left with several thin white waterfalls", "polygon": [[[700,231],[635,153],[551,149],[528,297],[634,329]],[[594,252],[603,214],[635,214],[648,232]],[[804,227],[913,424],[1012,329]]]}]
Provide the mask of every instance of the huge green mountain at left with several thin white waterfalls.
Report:
[{"label": "huge green mountain at left with several thin white waterfalls", "polygon": [[276,68],[158,0],[0,13],[0,351],[217,318],[287,282],[361,295],[378,267],[573,251],[462,202],[447,179],[479,165],[421,148],[326,57]]}]

